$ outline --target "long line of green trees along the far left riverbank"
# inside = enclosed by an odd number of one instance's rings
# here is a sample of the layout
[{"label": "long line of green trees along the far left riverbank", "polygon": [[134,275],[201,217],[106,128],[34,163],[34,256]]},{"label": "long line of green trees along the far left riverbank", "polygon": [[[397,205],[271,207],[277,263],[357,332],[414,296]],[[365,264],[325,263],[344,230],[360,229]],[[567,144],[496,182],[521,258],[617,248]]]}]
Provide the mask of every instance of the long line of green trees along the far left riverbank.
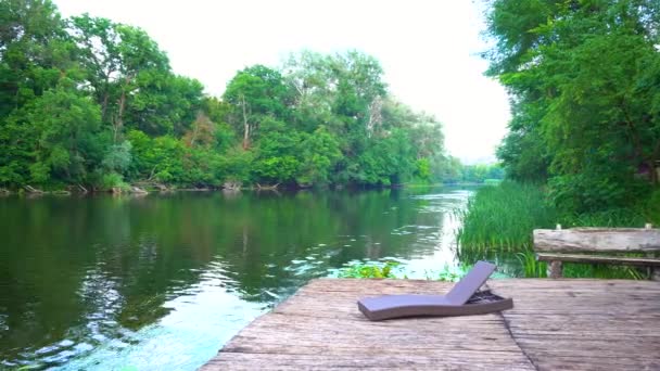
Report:
[{"label": "long line of green trees along the far left riverbank", "polygon": [[215,98],[140,28],[47,0],[1,1],[0,24],[0,187],[391,186],[460,166],[356,51],[250,66]]}]

